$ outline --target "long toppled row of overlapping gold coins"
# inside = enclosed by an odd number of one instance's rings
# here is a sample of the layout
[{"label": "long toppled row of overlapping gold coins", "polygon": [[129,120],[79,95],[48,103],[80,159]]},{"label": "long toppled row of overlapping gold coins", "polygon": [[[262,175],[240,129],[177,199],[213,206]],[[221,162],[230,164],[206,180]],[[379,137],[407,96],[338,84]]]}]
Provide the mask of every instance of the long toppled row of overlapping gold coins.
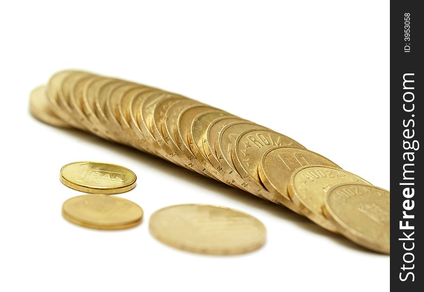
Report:
[{"label": "long toppled row of overlapping gold coins", "polygon": [[[30,110],[45,123],[135,147],[389,252],[389,243],[376,243],[387,237],[389,204],[380,199],[389,201],[389,192],[371,191],[365,180],[270,128],[179,94],[81,71],[53,75],[32,92]],[[334,189],[340,183],[363,190],[345,198],[354,209],[335,199],[347,192]],[[358,227],[364,224],[372,230]]]}]

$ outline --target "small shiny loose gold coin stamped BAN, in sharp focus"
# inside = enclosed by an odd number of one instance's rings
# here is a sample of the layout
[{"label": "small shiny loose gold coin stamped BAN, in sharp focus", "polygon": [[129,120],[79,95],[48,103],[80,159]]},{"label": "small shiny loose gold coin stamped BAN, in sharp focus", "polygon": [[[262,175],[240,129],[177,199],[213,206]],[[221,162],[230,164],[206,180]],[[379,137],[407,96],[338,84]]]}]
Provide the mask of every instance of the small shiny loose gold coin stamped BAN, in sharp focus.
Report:
[{"label": "small shiny loose gold coin stamped BAN, in sharp focus", "polygon": [[60,182],[67,187],[93,194],[120,194],[135,187],[135,173],[116,164],[81,161],[60,169]]}]

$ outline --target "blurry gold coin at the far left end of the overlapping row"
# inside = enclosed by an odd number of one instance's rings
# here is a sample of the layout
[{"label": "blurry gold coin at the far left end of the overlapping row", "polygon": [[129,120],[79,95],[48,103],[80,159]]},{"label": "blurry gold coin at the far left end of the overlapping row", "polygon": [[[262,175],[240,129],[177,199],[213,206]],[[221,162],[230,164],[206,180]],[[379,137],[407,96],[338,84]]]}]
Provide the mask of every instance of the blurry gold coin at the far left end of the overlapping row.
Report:
[{"label": "blurry gold coin at the far left end of the overlapping row", "polygon": [[31,114],[43,123],[69,128],[70,126],[63,122],[50,108],[51,104],[47,98],[46,87],[40,86],[31,92],[29,98],[29,110]]}]

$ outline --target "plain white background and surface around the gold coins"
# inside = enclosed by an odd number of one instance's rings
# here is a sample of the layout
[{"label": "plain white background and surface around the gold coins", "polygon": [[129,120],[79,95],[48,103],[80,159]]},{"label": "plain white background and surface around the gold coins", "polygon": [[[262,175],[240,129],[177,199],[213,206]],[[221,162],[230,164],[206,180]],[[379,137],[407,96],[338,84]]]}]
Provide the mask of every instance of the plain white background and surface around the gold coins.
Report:
[{"label": "plain white background and surface around the gold coins", "polygon": [[[136,150],[44,125],[30,91],[82,69],[181,93],[280,131],[389,188],[389,1],[5,1],[0,6],[1,291],[387,291],[389,256]],[[64,164],[124,165],[143,223],[68,223]],[[268,229],[243,256],[175,250],[148,231],[178,203],[245,211]],[[166,290],[165,290],[166,289]]]}]

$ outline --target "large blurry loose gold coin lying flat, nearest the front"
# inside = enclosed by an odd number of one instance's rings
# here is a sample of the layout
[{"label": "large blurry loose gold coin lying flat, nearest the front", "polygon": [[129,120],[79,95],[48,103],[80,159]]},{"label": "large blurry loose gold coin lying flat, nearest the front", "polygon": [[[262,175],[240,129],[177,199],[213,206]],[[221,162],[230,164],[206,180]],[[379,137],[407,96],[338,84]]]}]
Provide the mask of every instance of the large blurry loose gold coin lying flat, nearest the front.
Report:
[{"label": "large blurry loose gold coin lying flat, nearest the front", "polygon": [[151,234],[173,247],[201,254],[233,255],[258,249],[266,229],[258,219],[225,207],[174,205],[150,217]]}]

